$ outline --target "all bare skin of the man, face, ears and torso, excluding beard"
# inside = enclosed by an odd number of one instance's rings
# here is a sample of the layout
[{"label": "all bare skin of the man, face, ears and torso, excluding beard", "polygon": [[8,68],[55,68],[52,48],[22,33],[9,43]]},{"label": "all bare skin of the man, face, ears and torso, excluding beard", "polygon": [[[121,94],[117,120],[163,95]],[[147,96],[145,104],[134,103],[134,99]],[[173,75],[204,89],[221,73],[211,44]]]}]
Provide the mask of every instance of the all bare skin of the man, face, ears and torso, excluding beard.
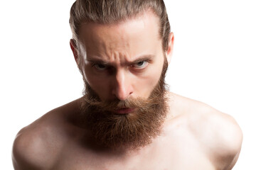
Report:
[{"label": "all bare skin of the man, face, ears and torso, excluding beard", "polygon": [[[70,46],[83,77],[101,100],[149,96],[164,63],[158,30],[158,20],[149,12],[116,25],[81,26],[79,47],[73,40]],[[173,47],[170,33],[165,52],[168,62]],[[242,145],[242,132],[235,120],[205,103],[171,92],[168,95],[162,133],[150,145],[116,151],[95,145],[78,117],[78,98],[18,132],[14,168],[232,169]]]}]

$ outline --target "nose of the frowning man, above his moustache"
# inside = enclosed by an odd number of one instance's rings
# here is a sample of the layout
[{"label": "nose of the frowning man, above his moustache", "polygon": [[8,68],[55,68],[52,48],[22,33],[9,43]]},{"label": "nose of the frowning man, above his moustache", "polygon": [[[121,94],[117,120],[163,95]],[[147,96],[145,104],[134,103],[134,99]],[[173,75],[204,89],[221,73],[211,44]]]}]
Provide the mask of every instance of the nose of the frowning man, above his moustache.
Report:
[{"label": "nose of the frowning man, above his moustache", "polygon": [[114,77],[112,94],[114,94],[114,96],[118,98],[120,101],[124,101],[132,93],[133,89],[131,79],[129,79],[125,71],[117,71]]}]

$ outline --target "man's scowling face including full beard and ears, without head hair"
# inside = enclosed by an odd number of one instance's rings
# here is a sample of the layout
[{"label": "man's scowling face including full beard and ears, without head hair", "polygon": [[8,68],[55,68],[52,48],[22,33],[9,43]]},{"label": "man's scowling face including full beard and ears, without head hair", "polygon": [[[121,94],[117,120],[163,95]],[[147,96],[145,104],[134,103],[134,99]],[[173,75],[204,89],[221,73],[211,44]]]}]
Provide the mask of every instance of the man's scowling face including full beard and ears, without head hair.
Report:
[{"label": "man's scowling face including full beard and ears, without head hair", "polygon": [[114,25],[83,24],[79,35],[79,52],[71,47],[86,84],[82,113],[96,140],[110,147],[149,143],[166,113],[172,34],[164,52],[158,18],[144,13]]}]

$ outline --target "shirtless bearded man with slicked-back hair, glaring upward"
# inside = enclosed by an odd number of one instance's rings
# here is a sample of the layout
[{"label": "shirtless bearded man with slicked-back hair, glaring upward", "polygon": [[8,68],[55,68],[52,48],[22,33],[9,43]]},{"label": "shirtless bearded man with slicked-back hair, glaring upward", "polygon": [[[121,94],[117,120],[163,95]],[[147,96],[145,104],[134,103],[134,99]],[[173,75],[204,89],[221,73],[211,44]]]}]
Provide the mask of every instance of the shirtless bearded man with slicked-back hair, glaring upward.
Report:
[{"label": "shirtless bearded man with slicked-back hair, glaring upward", "polygon": [[70,26],[84,96],[18,132],[15,169],[232,169],[235,120],[167,91],[164,1],[77,0]]}]

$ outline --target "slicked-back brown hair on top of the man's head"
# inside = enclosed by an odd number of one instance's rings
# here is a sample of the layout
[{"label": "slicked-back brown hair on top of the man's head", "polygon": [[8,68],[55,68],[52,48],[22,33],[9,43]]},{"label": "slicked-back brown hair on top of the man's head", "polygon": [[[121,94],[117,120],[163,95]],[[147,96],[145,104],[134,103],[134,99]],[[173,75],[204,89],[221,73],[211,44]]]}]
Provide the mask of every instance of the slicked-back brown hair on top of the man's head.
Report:
[{"label": "slicked-back brown hair on top of the man's head", "polygon": [[167,50],[171,26],[164,0],[76,0],[70,9],[69,21],[73,39],[79,40],[81,23],[121,23],[146,11],[153,11],[158,16],[162,46]]}]

